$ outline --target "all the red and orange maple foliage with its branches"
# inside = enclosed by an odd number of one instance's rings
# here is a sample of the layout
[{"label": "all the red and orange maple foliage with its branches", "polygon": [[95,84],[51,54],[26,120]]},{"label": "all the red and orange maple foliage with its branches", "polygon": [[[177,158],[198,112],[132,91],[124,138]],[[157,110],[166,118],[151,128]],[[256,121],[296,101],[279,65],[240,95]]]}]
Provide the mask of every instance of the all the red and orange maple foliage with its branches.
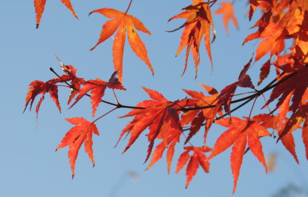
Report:
[{"label": "all the red and orange maple foliage with its branches", "polygon": [[[70,1],[61,1],[78,18]],[[216,30],[212,13],[223,15],[222,23],[227,33],[229,21],[235,27],[239,27],[233,10],[236,1],[232,3],[220,2],[218,10],[211,10],[211,7],[217,2],[217,0],[192,0],[192,3],[184,7],[182,12],[179,10],[179,14],[169,19],[169,21],[184,19],[183,25],[169,31],[182,31],[176,56],[180,55],[181,51],[186,48],[183,74],[187,65],[192,64],[195,65],[197,77],[200,56],[204,55],[200,54],[200,47],[203,47],[202,39],[209,57],[208,64],[213,67],[210,45],[215,40]],[[34,0],[36,28],[41,22],[45,3],[46,0]],[[128,14],[132,1],[127,3],[129,5],[125,12],[112,8],[101,8],[89,13],[89,15],[100,13],[110,18],[103,25],[98,43],[90,49],[93,50],[114,35],[112,47],[114,72],[110,79],[108,81],[99,78],[84,80],[84,78],[79,77],[73,66],[63,64],[58,58],[65,73],[59,75],[50,68],[56,74],[55,78],[47,82],[33,81],[30,83],[25,110],[29,104],[31,110],[35,98],[41,96],[35,108],[37,115],[45,95],[49,94],[61,112],[57,87],[59,84],[63,86],[63,83],[71,89],[67,103],[70,105],[69,108],[88,96],[92,104],[92,117],[95,116],[95,112],[102,102],[114,106],[111,111],[119,108],[130,108],[130,112],[120,117],[132,117],[120,133],[118,143],[123,136],[128,136],[128,142],[123,152],[128,151],[137,142],[141,134],[146,134],[149,143],[145,158],[145,162],[149,160],[149,165],[146,169],[151,168],[159,161],[166,151],[167,169],[170,173],[171,162],[174,160],[176,151],[175,146],[180,144],[184,150],[177,159],[176,173],[179,173],[186,166],[186,187],[196,174],[199,166],[204,172],[210,172],[211,159],[232,147],[230,166],[234,177],[233,192],[235,192],[243,156],[247,151],[251,151],[267,171],[262,150],[262,139],[264,137],[271,137],[273,143],[281,142],[286,150],[293,155],[295,161],[299,163],[292,134],[296,129],[300,129],[302,132],[302,140],[308,160],[308,2],[306,0],[248,1],[247,20],[250,21],[256,11],[261,11],[262,14],[256,24],[252,25],[255,32],[243,39],[243,45],[254,40],[257,40],[258,44],[253,56],[246,58],[247,64],[239,71],[238,81],[226,85],[221,91],[200,84],[205,89],[204,92],[184,90],[187,97],[176,101],[169,101],[160,92],[143,87],[150,100],[141,101],[137,106],[120,104],[113,91],[114,89],[126,90],[122,81],[126,35],[132,51],[149,67],[150,72],[154,73],[146,45],[141,41],[137,30],[151,34],[139,19]],[[287,40],[292,41],[289,42],[292,43],[291,46],[286,44]],[[103,44],[100,47],[104,47]],[[188,62],[190,53],[194,63]],[[263,60],[261,58],[264,56],[266,56],[267,61],[261,62],[260,60]],[[263,88],[256,88],[251,77],[246,74],[252,64],[260,66],[258,86],[268,76],[270,67],[276,69],[276,77]],[[102,100],[107,88],[113,91],[117,103]],[[252,92],[248,96],[235,100],[234,95],[238,88],[249,88]],[[271,92],[271,95],[268,98],[264,97],[264,105],[260,106],[260,108],[263,107],[264,113],[252,116],[253,105],[249,114],[243,114],[247,117],[240,118],[232,115],[234,110],[249,101],[255,102],[263,97],[263,93],[267,91]],[[239,102],[242,103],[238,107],[231,107],[231,104]],[[268,107],[271,103],[275,104],[274,109]],[[73,177],[75,161],[82,144],[84,144],[85,151],[94,165],[92,134],[99,135],[99,130],[95,124],[111,111],[99,116],[94,121],[87,121],[83,117],[66,119],[74,126],[66,133],[56,150],[69,147],[68,157]],[[210,128],[213,124],[221,125],[226,129],[217,138],[214,147],[210,148],[207,146],[207,134],[211,131]],[[269,132],[268,129],[274,129],[275,133]],[[193,145],[190,140],[199,131],[203,132],[203,139],[200,144]],[[275,136],[278,137],[275,139]]]}]

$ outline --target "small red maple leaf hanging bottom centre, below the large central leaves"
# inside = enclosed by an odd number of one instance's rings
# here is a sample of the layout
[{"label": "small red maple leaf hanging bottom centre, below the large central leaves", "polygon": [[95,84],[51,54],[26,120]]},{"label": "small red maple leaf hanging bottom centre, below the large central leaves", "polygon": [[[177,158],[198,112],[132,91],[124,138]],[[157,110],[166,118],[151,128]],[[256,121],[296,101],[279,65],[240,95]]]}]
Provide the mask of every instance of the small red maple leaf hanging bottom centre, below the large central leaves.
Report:
[{"label": "small red maple leaf hanging bottom centre, below the large central leaves", "polygon": [[[190,181],[197,173],[199,165],[202,167],[204,172],[206,173],[209,172],[208,171],[209,162],[204,152],[211,151],[211,148],[206,147],[206,146],[205,147],[186,146],[184,147],[184,150],[186,151],[184,151],[179,157],[176,173],[179,173],[189,160],[187,168],[186,168],[186,188],[187,188]],[[190,151],[193,151],[192,156],[189,155]]]}]

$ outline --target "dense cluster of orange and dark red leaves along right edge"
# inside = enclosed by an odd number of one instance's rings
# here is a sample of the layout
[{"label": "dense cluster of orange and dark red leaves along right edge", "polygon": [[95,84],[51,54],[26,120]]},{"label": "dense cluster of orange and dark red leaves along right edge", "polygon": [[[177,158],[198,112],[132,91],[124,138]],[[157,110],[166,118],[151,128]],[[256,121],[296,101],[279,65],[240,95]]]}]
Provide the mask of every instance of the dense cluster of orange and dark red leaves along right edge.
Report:
[{"label": "dense cluster of orange and dark red leaves along right edge", "polygon": [[[308,106],[308,3],[305,0],[295,1],[249,1],[251,9],[249,18],[257,7],[262,8],[263,15],[253,26],[258,27],[257,32],[248,35],[243,44],[248,41],[262,38],[256,49],[255,60],[259,61],[269,53],[269,60],[261,67],[259,78],[260,85],[267,77],[270,66],[276,71],[283,71],[277,76],[278,85],[273,89],[271,96],[264,107],[278,99],[272,113],[279,109],[277,119],[278,141],[281,140],[285,148],[290,151],[299,163],[295,152],[295,143],[292,132],[302,128],[302,138],[308,159],[308,134],[307,134],[307,106]],[[285,40],[293,39],[290,53],[281,55],[285,48]],[[272,56],[276,61],[272,62]],[[295,76],[296,77],[293,77]],[[263,108],[264,108],[263,107]],[[287,113],[291,113],[287,118]],[[273,128],[273,127],[272,127]]]}]

